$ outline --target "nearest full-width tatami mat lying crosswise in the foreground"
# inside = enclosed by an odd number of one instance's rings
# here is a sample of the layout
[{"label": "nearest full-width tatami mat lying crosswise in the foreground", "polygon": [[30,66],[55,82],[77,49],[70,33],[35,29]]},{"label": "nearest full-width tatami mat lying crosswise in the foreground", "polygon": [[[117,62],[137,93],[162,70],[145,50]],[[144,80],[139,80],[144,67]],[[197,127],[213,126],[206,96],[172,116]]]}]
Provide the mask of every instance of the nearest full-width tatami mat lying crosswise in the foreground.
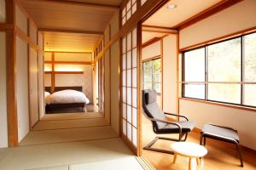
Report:
[{"label": "nearest full-width tatami mat lying crosswise in the foreground", "polygon": [[65,169],[67,165],[109,161],[133,156],[122,139],[38,144],[9,149],[0,161],[4,170],[24,170],[45,167]]}]

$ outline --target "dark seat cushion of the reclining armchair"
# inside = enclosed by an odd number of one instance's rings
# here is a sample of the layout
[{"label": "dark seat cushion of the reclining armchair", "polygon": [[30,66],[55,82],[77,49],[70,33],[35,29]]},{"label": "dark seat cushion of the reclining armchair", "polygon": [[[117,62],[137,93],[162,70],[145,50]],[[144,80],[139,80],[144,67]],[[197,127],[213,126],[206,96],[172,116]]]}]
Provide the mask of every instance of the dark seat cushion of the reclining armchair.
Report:
[{"label": "dark seat cushion of the reclining armchair", "polygon": [[[195,122],[177,122],[182,127],[182,133],[189,133],[195,127]],[[179,133],[179,128],[173,124],[166,124],[165,127],[158,129],[158,133]]]}]

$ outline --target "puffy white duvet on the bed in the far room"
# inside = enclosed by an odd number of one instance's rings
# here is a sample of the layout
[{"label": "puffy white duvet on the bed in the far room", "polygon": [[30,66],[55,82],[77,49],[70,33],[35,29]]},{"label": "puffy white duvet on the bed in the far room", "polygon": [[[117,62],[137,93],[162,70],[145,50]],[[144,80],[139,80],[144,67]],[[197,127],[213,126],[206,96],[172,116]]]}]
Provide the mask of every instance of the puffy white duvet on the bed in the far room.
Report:
[{"label": "puffy white duvet on the bed in the far room", "polygon": [[90,103],[84,93],[76,90],[61,90],[50,94],[46,100],[47,104]]}]

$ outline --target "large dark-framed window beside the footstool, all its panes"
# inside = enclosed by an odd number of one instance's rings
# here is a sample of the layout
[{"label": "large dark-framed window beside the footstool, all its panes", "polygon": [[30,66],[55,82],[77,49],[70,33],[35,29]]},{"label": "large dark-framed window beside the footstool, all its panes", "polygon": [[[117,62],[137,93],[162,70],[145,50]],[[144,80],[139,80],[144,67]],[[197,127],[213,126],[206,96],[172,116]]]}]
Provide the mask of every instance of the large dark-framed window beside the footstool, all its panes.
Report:
[{"label": "large dark-framed window beside the footstool, all its panes", "polygon": [[183,97],[256,107],[256,33],[183,52]]}]

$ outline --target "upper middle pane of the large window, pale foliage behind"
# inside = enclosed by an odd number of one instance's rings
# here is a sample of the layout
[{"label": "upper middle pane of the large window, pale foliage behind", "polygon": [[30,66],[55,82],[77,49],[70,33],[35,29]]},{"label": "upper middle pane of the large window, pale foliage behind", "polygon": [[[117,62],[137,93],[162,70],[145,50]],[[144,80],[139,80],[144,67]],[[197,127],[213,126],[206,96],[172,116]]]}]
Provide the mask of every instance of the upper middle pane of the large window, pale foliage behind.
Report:
[{"label": "upper middle pane of the large window, pale foliage behind", "polygon": [[240,37],[208,46],[207,59],[209,82],[241,82]]}]

